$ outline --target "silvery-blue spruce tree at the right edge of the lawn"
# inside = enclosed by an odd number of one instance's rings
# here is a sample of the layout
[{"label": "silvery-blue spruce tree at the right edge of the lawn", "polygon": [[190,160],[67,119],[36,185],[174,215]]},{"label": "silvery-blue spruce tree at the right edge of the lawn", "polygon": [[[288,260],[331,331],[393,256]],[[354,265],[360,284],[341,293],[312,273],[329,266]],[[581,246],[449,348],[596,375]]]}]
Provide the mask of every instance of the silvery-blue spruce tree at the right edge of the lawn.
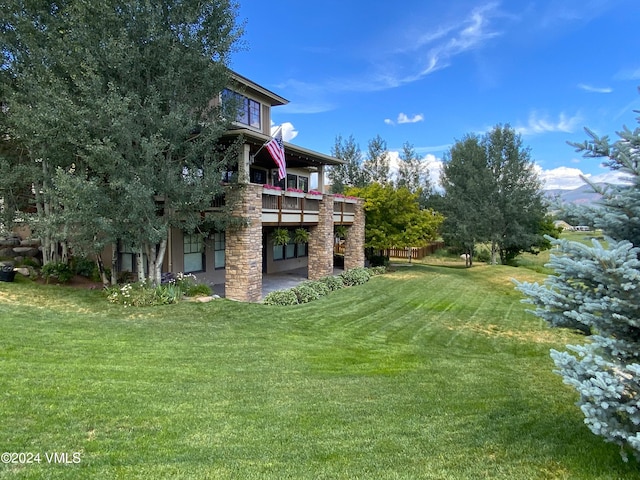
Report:
[{"label": "silvery-blue spruce tree at the right edge of the lawn", "polygon": [[574,145],[578,151],[607,158],[630,182],[599,189],[593,223],[606,242],[555,240],[559,250],[549,263],[555,274],[543,285],[517,288],[535,315],[589,336],[568,351],[551,351],[557,372],[579,393],[591,431],[620,445],[623,458],[629,450],[640,458],[640,129],[624,128],[613,145],[587,133],[591,139]]}]

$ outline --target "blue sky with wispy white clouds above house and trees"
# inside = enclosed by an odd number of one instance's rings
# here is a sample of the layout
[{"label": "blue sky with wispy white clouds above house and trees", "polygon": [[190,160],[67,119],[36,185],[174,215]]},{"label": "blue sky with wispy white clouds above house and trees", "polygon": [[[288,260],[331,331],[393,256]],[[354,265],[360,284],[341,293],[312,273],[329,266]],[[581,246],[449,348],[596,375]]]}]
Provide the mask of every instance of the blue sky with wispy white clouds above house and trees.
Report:
[{"label": "blue sky with wispy white clouds above house and trees", "polygon": [[380,135],[437,176],[456,140],[508,123],[548,188],[575,188],[612,178],[566,142],[637,126],[638,0],[239,1],[231,67],[290,101],[272,118],[302,147]]}]

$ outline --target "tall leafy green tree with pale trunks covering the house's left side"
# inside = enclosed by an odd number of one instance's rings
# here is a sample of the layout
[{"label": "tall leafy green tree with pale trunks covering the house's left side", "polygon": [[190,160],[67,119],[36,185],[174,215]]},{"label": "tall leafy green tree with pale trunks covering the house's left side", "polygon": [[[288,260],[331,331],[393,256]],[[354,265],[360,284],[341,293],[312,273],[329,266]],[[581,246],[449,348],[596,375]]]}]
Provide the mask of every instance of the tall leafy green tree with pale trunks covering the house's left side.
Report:
[{"label": "tall leafy green tree with pale trunks covering the house's left side", "polygon": [[[45,261],[56,244],[119,240],[146,259],[141,279],[159,282],[169,228],[198,228],[233,158],[218,143],[229,115],[212,100],[228,84],[235,11],[226,0],[5,2],[5,139],[24,147]],[[90,212],[99,219],[73,222]]]}]

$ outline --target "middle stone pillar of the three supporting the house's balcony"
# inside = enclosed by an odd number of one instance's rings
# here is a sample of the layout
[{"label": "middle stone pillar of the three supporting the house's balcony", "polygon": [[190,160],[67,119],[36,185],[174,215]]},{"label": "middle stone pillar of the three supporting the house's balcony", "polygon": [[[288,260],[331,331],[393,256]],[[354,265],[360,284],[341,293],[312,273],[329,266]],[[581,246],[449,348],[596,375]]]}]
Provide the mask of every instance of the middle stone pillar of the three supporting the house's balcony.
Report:
[{"label": "middle stone pillar of the three supporting the house's balcony", "polygon": [[318,225],[311,227],[307,277],[317,280],[333,275],[333,195],[320,201]]}]

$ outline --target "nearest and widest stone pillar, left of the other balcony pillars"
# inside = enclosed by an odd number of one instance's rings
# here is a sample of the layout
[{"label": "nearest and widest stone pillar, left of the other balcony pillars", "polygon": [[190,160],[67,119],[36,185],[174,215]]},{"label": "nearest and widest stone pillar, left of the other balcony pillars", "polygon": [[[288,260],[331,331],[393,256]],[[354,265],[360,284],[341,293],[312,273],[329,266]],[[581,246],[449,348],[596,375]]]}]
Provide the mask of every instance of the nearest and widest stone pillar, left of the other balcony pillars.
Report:
[{"label": "nearest and widest stone pillar, left of the other balcony pillars", "polygon": [[246,226],[225,232],[225,297],[241,302],[262,298],[262,185],[230,189],[234,217],[247,220]]}]

